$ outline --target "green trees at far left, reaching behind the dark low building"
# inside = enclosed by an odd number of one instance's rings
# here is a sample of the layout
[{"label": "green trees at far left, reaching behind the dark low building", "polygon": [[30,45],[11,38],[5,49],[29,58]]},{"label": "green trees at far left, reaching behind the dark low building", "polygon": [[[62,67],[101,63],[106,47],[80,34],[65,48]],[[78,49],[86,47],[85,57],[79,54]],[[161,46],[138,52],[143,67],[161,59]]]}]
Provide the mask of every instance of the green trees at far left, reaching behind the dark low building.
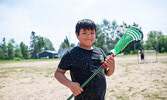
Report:
[{"label": "green trees at far left, reaching behind the dark low building", "polygon": [[55,50],[52,42],[45,37],[38,36],[34,31],[30,36],[30,47],[21,42],[16,44],[14,39],[6,42],[4,37],[0,42],[0,59],[34,59],[43,50]]}]

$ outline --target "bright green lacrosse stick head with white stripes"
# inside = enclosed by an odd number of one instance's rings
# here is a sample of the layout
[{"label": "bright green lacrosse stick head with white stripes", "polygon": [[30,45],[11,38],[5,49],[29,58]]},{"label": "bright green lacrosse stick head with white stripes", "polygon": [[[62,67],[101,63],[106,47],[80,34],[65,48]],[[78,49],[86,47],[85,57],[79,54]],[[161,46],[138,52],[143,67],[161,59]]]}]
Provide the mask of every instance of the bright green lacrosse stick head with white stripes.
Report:
[{"label": "bright green lacrosse stick head with white stripes", "polygon": [[143,39],[143,32],[136,27],[129,27],[126,29],[125,34],[117,42],[112,52],[113,55],[117,55],[123,52],[131,43],[139,42]]}]

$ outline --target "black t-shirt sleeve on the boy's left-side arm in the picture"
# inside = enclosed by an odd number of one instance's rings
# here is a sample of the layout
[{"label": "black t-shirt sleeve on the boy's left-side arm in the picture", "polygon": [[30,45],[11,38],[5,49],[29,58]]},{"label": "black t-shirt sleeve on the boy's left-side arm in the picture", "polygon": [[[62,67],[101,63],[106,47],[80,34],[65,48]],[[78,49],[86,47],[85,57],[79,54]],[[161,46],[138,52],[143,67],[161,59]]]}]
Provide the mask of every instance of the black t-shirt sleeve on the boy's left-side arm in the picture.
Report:
[{"label": "black t-shirt sleeve on the boy's left-side arm in the picture", "polygon": [[59,65],[58,65],[58,67],[59,67],[60,69],[69,70],[69,69],[70,69],[70,66],[71,66],[71,63],[72,63],[71,56],[70,56],[69,51],[67,51],[67,52],[63,55],[63,57],[62,57],[62,59],[61,59]]}]

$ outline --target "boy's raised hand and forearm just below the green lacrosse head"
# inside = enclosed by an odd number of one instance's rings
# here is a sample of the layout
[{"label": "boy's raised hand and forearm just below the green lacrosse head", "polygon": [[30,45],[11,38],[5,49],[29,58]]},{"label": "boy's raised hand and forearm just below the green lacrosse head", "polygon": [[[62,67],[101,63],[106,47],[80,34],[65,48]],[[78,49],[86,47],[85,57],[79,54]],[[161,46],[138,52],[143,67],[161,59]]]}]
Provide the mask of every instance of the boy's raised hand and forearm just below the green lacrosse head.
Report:
[{"label": "boy's raised hand and forearm just below the green lacrosse head", "polygon": [[111,56],[108,56],[106,61],[105,61],[106,65],[107,65],[107,69],[105,69],[105,75],[106,76],[110,76],[114,73],[115,70],[115,61],[114,58]]}]

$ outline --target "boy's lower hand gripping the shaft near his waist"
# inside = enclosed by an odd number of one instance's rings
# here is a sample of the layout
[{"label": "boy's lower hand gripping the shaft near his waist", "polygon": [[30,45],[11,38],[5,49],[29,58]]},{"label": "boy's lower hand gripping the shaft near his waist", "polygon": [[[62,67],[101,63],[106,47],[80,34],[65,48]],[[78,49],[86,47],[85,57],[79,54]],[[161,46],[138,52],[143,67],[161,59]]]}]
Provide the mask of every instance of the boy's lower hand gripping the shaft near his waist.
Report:
[{"label": "boy's lower hand gripping the shaft near his waist", "polygon": [[80,87],[80,84],[77,82],[72,82],[70,84],[70,90],[72,91],[74,96],[77,96],[83,92],[83,89]]}]

